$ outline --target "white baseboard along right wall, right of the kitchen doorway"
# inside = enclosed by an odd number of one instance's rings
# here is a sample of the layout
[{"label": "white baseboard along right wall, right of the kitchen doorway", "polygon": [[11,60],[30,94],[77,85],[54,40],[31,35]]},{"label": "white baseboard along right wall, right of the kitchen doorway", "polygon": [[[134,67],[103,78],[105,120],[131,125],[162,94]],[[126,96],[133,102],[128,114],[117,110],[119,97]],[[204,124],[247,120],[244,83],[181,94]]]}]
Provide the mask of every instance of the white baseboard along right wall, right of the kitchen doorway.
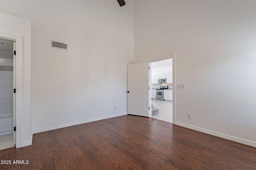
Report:
[{"label": "white baseboard along right wall, right of the kitchen doorway", "polygon": [[256,143],[254,143],[252,141],[246,141],[244,139],[240,139],[240,138],[224,135],[224,134],[221,134],[221,133],[216,133],[216,132],[213,132],[213,131],[208,131],[206,129],[201,129],[201,128],[198,128],[198,127],[186,125],[186,124],[179,123],[179,122],[175,122],[174,125],[186,127],[188,129],[192,129],[192,130],[195,130],[195,131],[199,131],[199,132],[202,132],[202,133],[207,133],[209,135],[213,135],[213,136],[220,137],[220,138],[223,138],[223,139],[228,139],[230,141],[234,141],[234,142],[237,142],[237,143],[242,143],[244,145],[249,145],[251,147],[256,147]]}]

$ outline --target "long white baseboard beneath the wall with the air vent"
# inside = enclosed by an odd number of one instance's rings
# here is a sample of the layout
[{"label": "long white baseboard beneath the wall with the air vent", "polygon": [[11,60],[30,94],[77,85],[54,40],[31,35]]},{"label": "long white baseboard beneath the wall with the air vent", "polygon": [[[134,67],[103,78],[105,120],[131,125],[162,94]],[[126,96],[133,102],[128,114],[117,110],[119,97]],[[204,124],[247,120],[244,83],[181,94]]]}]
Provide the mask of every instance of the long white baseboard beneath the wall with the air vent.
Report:
[{"label": "long white baseboard beneath the wall with the air vent", "polygon": [[52,126],[52,127],[48,127],[48,128],[44,128],[44,129],[37,129],[37,130],[33,131],[33,134],[40,133],[40,132],[45,132],[45,131],[51,131],[51,130],[54,130],[54,129],[60,129],[60,128],[63,128],[63,127],[80,125],[80,124],[89,123],[89,122],[92,122],[92,121],[109,119],[109,118],[112,118],[112,117],[118,117],[118,116],[123,116],[123,115],[127,115],[127,112],[126,113],[119,113],[119,114],[116,114],[116,115],[98,117],[98,118],[95,118],[95,119],[88,119],[88,120],[85,120],[85,121],[78,121],[78,122],[74,122],[74,123],[68,123],[68,124],[65,124],[65,125]]}]

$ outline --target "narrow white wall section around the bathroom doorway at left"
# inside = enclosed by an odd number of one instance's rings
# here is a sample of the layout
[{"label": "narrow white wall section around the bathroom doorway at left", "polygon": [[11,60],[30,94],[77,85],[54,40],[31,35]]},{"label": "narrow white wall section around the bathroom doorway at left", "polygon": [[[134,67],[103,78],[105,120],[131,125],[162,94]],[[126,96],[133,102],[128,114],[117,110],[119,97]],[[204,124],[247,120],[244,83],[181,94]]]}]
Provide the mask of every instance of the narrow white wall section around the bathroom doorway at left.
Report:
[{"label": "narrow white wall section around the bathroom doorway at left", "polygon": [[[2,8],[2,2],[0,2]],[[2,11],[2,10],[0,10]],[[21,129],[21,144],[18,147],[31,145],[32,139],[32,117],[31,117],[31,22],[23,18],[11,16],[0,12],[0,32],[12,35],[23,36],[22,46],[22,113],[18,120],[22,124]],[[17,92],[16,95],[20,92]],[[21,95],[20,95],[21,96]],[[21,146],[20,146],[21,145]]]}]

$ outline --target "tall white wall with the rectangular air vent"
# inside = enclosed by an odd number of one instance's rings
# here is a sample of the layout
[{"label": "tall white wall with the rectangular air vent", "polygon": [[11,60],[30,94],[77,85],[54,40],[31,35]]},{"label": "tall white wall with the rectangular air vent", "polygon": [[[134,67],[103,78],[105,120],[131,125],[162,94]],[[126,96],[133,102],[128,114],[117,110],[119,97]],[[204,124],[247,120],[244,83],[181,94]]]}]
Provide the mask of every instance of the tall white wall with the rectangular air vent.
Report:
[{"label": "tall white wall with the rectangular air vent", "polygon": [[[32,22],[34,133],[127,112],[134,59],[133,0],[10,0],[0,11]],[[68,43],[68,51],[50,47]],[[116,106],[116,110],[114,110]]]}]

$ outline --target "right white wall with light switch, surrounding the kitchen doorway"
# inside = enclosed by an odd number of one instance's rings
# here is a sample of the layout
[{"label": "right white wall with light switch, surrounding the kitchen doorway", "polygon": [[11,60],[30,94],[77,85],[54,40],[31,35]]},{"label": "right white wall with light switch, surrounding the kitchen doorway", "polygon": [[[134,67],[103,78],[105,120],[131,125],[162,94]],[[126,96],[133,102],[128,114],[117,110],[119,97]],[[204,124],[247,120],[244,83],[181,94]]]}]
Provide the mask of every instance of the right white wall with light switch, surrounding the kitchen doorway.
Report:
[{"label": "right white wall with light switch, surrounding the kitchen doorway", "polygon": [[135,1],[134,62],[176,54],[176,84],[186,84],[177,124],[256,146],[255,9],[255,0]]}]

